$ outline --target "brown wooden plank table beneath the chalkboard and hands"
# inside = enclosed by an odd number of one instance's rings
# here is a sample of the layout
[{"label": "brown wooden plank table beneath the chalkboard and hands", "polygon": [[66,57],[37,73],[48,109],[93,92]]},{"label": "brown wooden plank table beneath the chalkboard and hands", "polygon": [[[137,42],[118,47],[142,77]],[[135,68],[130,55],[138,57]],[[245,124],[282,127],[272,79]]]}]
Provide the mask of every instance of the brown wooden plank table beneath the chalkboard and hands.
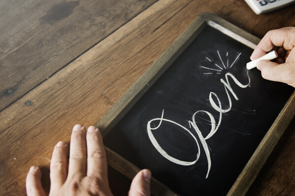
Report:
[{"label": "brown wooden plank table beneath the chalkboard and hands", "polygon": [[[32,165],[48,191],[56,143],[95,124],[204,11],[260,38],[295,25],[295,5],[258,16],[244,0],[0,1],[1,195],[25,195]],[[295,119],[248,195],[295,195],[294,130]],[[109,175],[124,195],[129,181]]]}]

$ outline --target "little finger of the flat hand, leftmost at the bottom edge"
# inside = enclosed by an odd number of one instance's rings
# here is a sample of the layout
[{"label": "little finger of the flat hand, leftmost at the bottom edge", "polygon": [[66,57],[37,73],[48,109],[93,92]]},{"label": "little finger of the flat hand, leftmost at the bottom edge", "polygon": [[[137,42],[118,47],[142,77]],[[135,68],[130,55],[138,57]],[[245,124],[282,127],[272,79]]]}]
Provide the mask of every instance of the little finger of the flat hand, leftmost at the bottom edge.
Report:
[{"label": "little finger of the flat hand, leftmost at the bottom edge", "polygon": [[26,179],[28,196],[46,196],[41,184],[41,171],[37,167],[31,167]]}]

